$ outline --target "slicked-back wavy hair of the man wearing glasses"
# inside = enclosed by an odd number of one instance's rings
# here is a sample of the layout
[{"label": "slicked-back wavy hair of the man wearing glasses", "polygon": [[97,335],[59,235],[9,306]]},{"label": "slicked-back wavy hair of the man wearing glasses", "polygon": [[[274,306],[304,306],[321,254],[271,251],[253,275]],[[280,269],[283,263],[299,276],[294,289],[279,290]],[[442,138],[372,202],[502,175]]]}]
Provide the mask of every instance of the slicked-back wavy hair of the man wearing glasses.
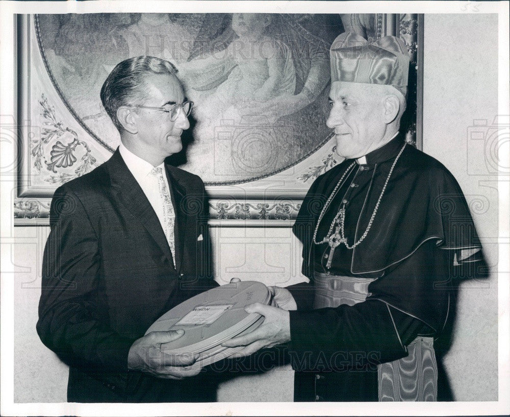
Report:
[{"label": "slicked-back wavy hair of the man wearing glasses", "polygon": [[147,99],[144,77],[150,74],[175,75],[177,68],[161,58],[140,56],[118,63],[101,87],[101,102],[115,127],[124,128],[117,118],[121,106],[140,104]]}]

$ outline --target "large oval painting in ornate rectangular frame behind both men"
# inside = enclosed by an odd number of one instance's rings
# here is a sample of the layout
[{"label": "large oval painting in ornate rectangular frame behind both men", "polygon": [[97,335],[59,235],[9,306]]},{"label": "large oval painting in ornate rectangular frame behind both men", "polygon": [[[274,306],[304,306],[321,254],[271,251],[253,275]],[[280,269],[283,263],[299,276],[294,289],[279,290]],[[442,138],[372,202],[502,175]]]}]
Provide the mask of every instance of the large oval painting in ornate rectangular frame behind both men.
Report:
[{"label": "large oval painting in ornate rectangular frame behind both men", "polygon": [[[17,218],[46,217],[61,184],[108,160],[120,136],[100,103],[114,66],[150,55],[179,70],[195,103],[184,150],[216,219],[291,219],[341,161],[326,127],[329,46],[344,31],[400,36],[417,80],[417,15],[93,13],[19,15]],[[408,140],[419,144],[416,85]],[[419,109],[418,109],[419,111]]]}]

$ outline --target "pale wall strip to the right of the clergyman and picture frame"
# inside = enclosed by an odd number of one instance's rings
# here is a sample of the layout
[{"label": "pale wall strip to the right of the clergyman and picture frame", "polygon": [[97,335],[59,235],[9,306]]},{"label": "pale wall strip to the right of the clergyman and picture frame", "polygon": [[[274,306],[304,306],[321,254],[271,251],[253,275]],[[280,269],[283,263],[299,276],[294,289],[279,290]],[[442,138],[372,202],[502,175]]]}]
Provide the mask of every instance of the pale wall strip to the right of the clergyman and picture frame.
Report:
[{"label": "pale wall strip to the right of the clergyman and picture frame", "polygon": [[494,14],[426,15],[424,25],[423,151],[457,179],[492,266],[489,280],[465,282],[460,291],[445,357],[458,401],[498,396],[497,156],[490,138],[477,135],[490,136],[498,114],[497,25]]}]

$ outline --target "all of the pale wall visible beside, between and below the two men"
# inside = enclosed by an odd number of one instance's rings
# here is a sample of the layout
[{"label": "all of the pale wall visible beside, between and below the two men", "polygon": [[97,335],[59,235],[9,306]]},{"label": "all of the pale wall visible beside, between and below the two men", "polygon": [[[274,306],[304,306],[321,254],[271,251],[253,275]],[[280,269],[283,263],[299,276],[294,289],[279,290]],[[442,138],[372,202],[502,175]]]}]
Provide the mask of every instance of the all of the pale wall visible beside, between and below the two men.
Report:
[{"label": "all of the pale wall visible beside, between and below the two men", "polygon": [[[497,201],[491,156],[469,136],[473,120],[497,114],[495,15],[426,15],[424,151],[457,178],[474,213],[493,269],[497,266]],[[451,28],[455,28],[454,31]],[[482,126],[483,128],[483,126]],[[489,166],[489,168],[488,168]],[[288,228],[213,228],[220,283],[232,277],[290,285],[301,280],[300,247]],[[17,227],[15,257],[15,402],[64,402],[67,369],[35,332],[41,259],[48,227]],[[452,347],[445,358],[456,400],[497,399],[497,275],[466,282]],[[219,401],[292,401],[285,367],[225,382]]]}]

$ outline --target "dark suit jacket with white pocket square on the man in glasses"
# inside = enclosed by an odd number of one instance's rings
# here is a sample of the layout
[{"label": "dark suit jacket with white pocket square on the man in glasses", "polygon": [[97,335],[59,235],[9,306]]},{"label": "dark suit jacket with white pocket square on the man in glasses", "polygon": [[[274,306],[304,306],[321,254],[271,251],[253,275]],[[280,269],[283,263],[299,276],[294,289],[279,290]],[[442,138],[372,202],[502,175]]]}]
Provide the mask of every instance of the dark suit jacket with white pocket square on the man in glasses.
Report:
[{"label": "dark suit jacket with white pocket square on the man in glasses", "polygon": [[199,397],[188,387],[183,394],[182,381],[127,370],[131,345],[159,316],[217,285],[203,183],[170,165],[166,173],[175,208],[175,254],[118,150],[55,192],[37,332],[70,366],[68,401]]}]

